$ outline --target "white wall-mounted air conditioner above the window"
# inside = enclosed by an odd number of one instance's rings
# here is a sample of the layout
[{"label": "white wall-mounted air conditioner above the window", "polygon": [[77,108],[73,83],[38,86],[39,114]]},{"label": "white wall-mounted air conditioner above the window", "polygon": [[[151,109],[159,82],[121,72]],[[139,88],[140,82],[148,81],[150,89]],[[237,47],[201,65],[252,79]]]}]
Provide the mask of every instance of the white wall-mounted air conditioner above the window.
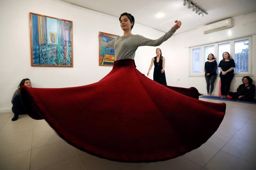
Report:
[{"label": "white wall-mounted air conditioner above the window", "polygon": [[228,18],[219,22],[215,22],[203,27],[204,33],[212,33],[232,27],[232,19]]}]

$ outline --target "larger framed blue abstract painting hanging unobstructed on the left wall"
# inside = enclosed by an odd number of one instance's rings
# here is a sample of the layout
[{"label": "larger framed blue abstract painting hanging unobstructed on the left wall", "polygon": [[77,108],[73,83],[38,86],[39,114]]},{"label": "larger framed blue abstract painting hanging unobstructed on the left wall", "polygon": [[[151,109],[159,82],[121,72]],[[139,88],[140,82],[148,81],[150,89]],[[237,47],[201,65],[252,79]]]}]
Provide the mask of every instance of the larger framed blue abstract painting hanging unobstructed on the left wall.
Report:
[{"label": "larger framed blue abstract painting hanging unobstructed on the left wall", "polygon": [[73,22],[29,12],[31,66],[73,67]]}]

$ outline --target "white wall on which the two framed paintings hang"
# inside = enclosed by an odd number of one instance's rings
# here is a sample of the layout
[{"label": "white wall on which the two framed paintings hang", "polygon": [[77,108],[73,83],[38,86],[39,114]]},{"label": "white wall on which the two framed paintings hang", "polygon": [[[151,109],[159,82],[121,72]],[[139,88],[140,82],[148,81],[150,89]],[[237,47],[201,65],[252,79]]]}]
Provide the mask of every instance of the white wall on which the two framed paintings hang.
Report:
[{"label": "white wall on which the two framed paintings hang", "polygon": [[[73,68],[30,65],[29,12],[73,21]],[[10,110],[13,92],[23,78],[30,78],[33,87],[43,88],[72,87],[99,81],[112,69],[111,66],[98,65],[99,31],[123,35],[116,17],[51,0],[1,0],[0,20],[0,112]],[[151,39],[164,34],[137,23],[132,33]],[[138,49],[136,65],[139,70],[147,73],[155,49]]]}]

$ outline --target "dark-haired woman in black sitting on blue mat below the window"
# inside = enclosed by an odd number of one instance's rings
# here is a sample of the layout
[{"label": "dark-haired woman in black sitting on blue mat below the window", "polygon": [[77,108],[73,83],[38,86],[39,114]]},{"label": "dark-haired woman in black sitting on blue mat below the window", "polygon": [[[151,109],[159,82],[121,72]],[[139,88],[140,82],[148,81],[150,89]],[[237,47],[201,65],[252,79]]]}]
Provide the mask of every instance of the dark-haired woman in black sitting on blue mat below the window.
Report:
[{"label": "dark-haired woman in black sitting on blue mat below the window", "polygon": [[228,92],[227,96],[230,99],[240,100],[240,101],[253,101],[255,93],[255,85],[252,84],[252,78],[245,76],[242,79],[243,84],[239,85],[237,92]]}]

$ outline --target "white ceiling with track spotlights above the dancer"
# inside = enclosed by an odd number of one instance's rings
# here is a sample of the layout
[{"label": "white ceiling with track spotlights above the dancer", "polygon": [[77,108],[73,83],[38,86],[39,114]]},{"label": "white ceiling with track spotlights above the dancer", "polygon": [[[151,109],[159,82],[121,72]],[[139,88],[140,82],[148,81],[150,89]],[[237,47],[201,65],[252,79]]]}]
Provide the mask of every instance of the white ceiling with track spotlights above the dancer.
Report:
[{"label": "white ceiling with track spotlights above the dancer", "polygon": [[[61,0],[93,11],[119,17],[121,13],[131,13],[136,23],[167,32],[175,20],[182,22],[177,33],[195,29],[226,18],[233,18],[256,11],[256,0],[191,0],[208,15],[199,16],[188,9],[184,0]],[[163,18],[156,18],[162,12]]]}]

